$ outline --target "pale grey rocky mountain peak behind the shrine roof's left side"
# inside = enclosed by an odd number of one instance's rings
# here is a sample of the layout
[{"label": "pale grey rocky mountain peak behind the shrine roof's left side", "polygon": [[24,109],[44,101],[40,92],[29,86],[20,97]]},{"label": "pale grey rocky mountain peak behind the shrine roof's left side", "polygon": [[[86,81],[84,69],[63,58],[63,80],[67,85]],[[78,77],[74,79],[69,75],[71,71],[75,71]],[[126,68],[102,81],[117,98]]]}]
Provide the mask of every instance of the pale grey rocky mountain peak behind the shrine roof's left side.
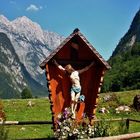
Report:
[{"label": "pale grey rocky mountain peak behind the shrine roof's left side", "polygon": [[[21,65],[21,71],[24,73],[23,77],[31,89],[36,91],[35,89],[38,87],[41,89],[46,87],[44,72],[40,69],[39,64],[50,54],[51,50],[54,50],[64,40],[64,37],[43,30],[38,23],[26,16],[9,21],[1,15],[0,32],[9,38],[11,47],[17,55],[16,59]],[[0,60],[0,63],[1,61],[3,60]]]}]

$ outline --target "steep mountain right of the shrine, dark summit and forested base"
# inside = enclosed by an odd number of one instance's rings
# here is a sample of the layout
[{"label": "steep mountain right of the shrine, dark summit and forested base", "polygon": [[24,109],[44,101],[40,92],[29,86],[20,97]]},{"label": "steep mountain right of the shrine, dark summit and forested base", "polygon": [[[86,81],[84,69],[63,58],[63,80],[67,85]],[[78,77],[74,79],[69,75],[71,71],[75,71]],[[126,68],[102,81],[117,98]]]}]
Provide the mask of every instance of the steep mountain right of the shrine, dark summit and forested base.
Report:
[{"label": "steep mountain right of the shrine, dark summit and forested base", "polygon": [[103,91],[140,89],[140,10],[108,60]]}]

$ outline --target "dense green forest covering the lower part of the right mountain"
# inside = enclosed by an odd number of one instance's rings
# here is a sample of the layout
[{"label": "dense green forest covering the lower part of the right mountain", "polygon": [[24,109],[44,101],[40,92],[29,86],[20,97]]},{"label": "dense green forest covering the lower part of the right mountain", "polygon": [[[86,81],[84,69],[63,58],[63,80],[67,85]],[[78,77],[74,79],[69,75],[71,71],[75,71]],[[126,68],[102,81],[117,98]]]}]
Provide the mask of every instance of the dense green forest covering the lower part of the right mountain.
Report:
[{"label": "dense green forest covering the lower part of the right mountain", "polygon": [[140,43],[109,60],[102,92],[140,89]]}]

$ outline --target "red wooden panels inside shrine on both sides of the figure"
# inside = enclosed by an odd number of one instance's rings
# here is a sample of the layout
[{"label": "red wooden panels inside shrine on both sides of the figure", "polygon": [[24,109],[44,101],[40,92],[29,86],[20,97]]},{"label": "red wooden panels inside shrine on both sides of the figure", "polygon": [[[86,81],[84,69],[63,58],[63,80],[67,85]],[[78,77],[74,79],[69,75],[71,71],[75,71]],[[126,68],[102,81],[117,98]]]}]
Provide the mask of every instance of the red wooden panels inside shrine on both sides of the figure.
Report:
[{"label": "red wooden panels inside shrine on both sides of the figure", "polygon": [[[77,120],[80,120],[83,113],[86,113],[88,117],[92,117],[95,109],[96,97],[98,91],[98,84],[100,75],[97,73],[96,66],[92,66],[91,69],[80,75],[82,93],[85,95],[85,102],[78,103],[77,107]],[[52,112],[54,113],[54,121],[58,114],[61,113],[64,108],[70,107],[70,88],[71,82],[69,77],[61,72],[56,66],[49,66],[50,74],[50,86],[51,86],[51,102]]]}]

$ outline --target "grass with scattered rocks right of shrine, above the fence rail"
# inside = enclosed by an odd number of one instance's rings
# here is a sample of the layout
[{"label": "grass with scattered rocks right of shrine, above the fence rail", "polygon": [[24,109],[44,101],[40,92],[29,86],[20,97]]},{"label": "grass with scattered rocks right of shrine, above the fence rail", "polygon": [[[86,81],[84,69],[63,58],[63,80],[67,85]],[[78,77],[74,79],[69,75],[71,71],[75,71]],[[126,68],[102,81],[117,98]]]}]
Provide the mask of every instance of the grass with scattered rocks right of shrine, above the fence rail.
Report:
[{"label": "grass with scattered rocks right of shrine, above the fence rail", "polygon": [[[140,94],[140,90],[133,90],[133,91],[125,91],[125,92],[113,92],[113,93],[103,93],[99,95],[99,103],[97,107],[97,117],[100,118],[104,116],[105,118],[132,118],[132,119],[140,119],[140,112],[137,112],[133,108],[131,108],[130,113],[115,113],[115,108],[120,106],[120,105],[127,105],[127,106],[132,106],[133,104],[133,98],[137,95]],[[105,102],[103,98],[105,96],[111,95],[112,100]],[[110,113],[108,114],[99,114],[98,110],[101,107],[107,108]]]}]

